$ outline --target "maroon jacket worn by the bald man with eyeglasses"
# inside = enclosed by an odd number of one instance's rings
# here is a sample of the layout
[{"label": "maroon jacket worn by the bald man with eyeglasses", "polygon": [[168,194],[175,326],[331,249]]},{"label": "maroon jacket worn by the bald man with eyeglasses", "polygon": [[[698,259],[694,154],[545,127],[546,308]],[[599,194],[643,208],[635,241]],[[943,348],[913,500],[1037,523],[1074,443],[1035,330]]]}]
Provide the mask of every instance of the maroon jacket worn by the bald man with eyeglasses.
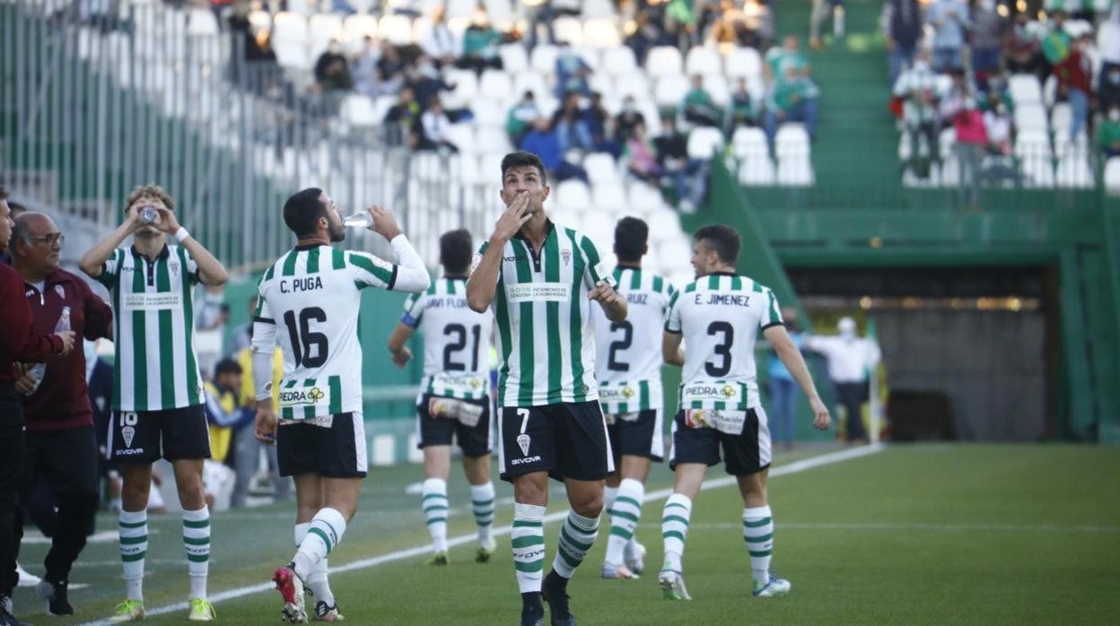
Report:
[{"label": "maroon jacket worn by the bald man with eyeglasses", "polygon": [[81,337],[94,340],[109,335],[113,310],[97,297],[84,280],[66,270],[55,270],[47,277],[43,292],[24,284],[26,300],[35,317],[35,330],[54,333],[63,307],[71,308],[71,329],[77,345],[66,356],[47,359],[43,383],[31,395],[24,396],[24,419],[27,430],[59,430],[93,426],[93,411],[85,384],[85,351]]}]

